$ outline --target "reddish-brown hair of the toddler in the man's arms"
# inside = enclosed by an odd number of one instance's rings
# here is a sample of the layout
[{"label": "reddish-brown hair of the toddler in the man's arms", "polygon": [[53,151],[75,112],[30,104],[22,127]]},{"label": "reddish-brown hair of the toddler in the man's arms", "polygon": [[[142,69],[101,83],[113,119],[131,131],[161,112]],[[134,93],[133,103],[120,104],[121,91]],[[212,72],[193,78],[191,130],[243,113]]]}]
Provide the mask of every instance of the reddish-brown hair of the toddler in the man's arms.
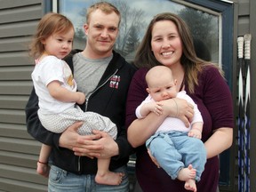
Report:
[{"label": "reddish-brown hair of the toddler in the man's arms", "polygon": [[44,44],[42,40],[45,40],[52,34],[62,34],[68,32],[70,28],[74,29],[74,26],[67,17],[60,13],[49,12],[39,21],[36,34],[30,44],[30,56],[37,59],[44,53]]}]

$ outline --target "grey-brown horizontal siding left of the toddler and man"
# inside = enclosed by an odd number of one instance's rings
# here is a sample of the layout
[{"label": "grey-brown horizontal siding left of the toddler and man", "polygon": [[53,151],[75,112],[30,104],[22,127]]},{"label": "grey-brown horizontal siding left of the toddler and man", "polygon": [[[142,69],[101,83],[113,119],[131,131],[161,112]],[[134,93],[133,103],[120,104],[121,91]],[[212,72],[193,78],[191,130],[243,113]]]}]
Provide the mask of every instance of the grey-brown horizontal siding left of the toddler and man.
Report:
[{"label": "grey-brown horizontal siding left of the toddler and man", "polygon": [[40,143],[27,132],[24,108],[31,91],[28,42],[44,12],[43,0],[0,3],[0,191],[46,191],[36,174]]}]

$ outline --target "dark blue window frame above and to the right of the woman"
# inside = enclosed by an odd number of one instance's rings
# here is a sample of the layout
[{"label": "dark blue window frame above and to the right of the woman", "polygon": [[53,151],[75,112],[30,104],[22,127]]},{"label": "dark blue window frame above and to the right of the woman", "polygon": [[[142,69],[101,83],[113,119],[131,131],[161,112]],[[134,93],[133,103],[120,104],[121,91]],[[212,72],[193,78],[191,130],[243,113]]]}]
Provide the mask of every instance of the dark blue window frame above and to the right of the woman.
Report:
[{"label": "dark blue window frame above and to the right of the woman", "polygon": [[[179,4],[184,3],[182,0],[172,0]],[[229,89],[233,90],[233,39],[234,39],[234,4],[227,0],[186,0],[190,4],[195,4],[211,9],[221,14],[220,23],[220,58],[221,66],[225,73]],[[220,189],[225,191],[233,191],[234,171],[233,171],[233,154],[231,148],[220,154]],[[227,166],[227,162],[229,163]],[[228,178],[227,178],[228,177]]]}]

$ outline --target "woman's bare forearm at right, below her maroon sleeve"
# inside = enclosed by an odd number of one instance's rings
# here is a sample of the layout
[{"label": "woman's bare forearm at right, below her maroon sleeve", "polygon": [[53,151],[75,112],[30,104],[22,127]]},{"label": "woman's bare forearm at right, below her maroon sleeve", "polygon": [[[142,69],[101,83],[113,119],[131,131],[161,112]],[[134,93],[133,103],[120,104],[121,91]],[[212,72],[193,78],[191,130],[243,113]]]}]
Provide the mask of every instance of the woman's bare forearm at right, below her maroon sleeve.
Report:
[{"label": "woman's bare forearm at right, below her maroon sleeve", "polygon": [[204,142],[207,158],[218,156],[224,150],[230,148],[233,142],[233,129],[223,127],[216,130],[212,136]]}]

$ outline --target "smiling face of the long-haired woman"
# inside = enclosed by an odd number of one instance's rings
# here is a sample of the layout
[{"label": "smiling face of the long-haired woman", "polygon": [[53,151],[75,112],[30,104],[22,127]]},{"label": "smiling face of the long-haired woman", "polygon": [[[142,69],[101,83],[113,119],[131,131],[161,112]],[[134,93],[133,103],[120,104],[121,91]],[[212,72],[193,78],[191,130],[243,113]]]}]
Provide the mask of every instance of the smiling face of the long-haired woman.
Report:
[{"label": "smiling face of the long-haired woman", "polygon": [[176,25],[171,20],[157,21],[152,28],[151,48],[156,60],[164,66],[180,64],[182,42]]}]

